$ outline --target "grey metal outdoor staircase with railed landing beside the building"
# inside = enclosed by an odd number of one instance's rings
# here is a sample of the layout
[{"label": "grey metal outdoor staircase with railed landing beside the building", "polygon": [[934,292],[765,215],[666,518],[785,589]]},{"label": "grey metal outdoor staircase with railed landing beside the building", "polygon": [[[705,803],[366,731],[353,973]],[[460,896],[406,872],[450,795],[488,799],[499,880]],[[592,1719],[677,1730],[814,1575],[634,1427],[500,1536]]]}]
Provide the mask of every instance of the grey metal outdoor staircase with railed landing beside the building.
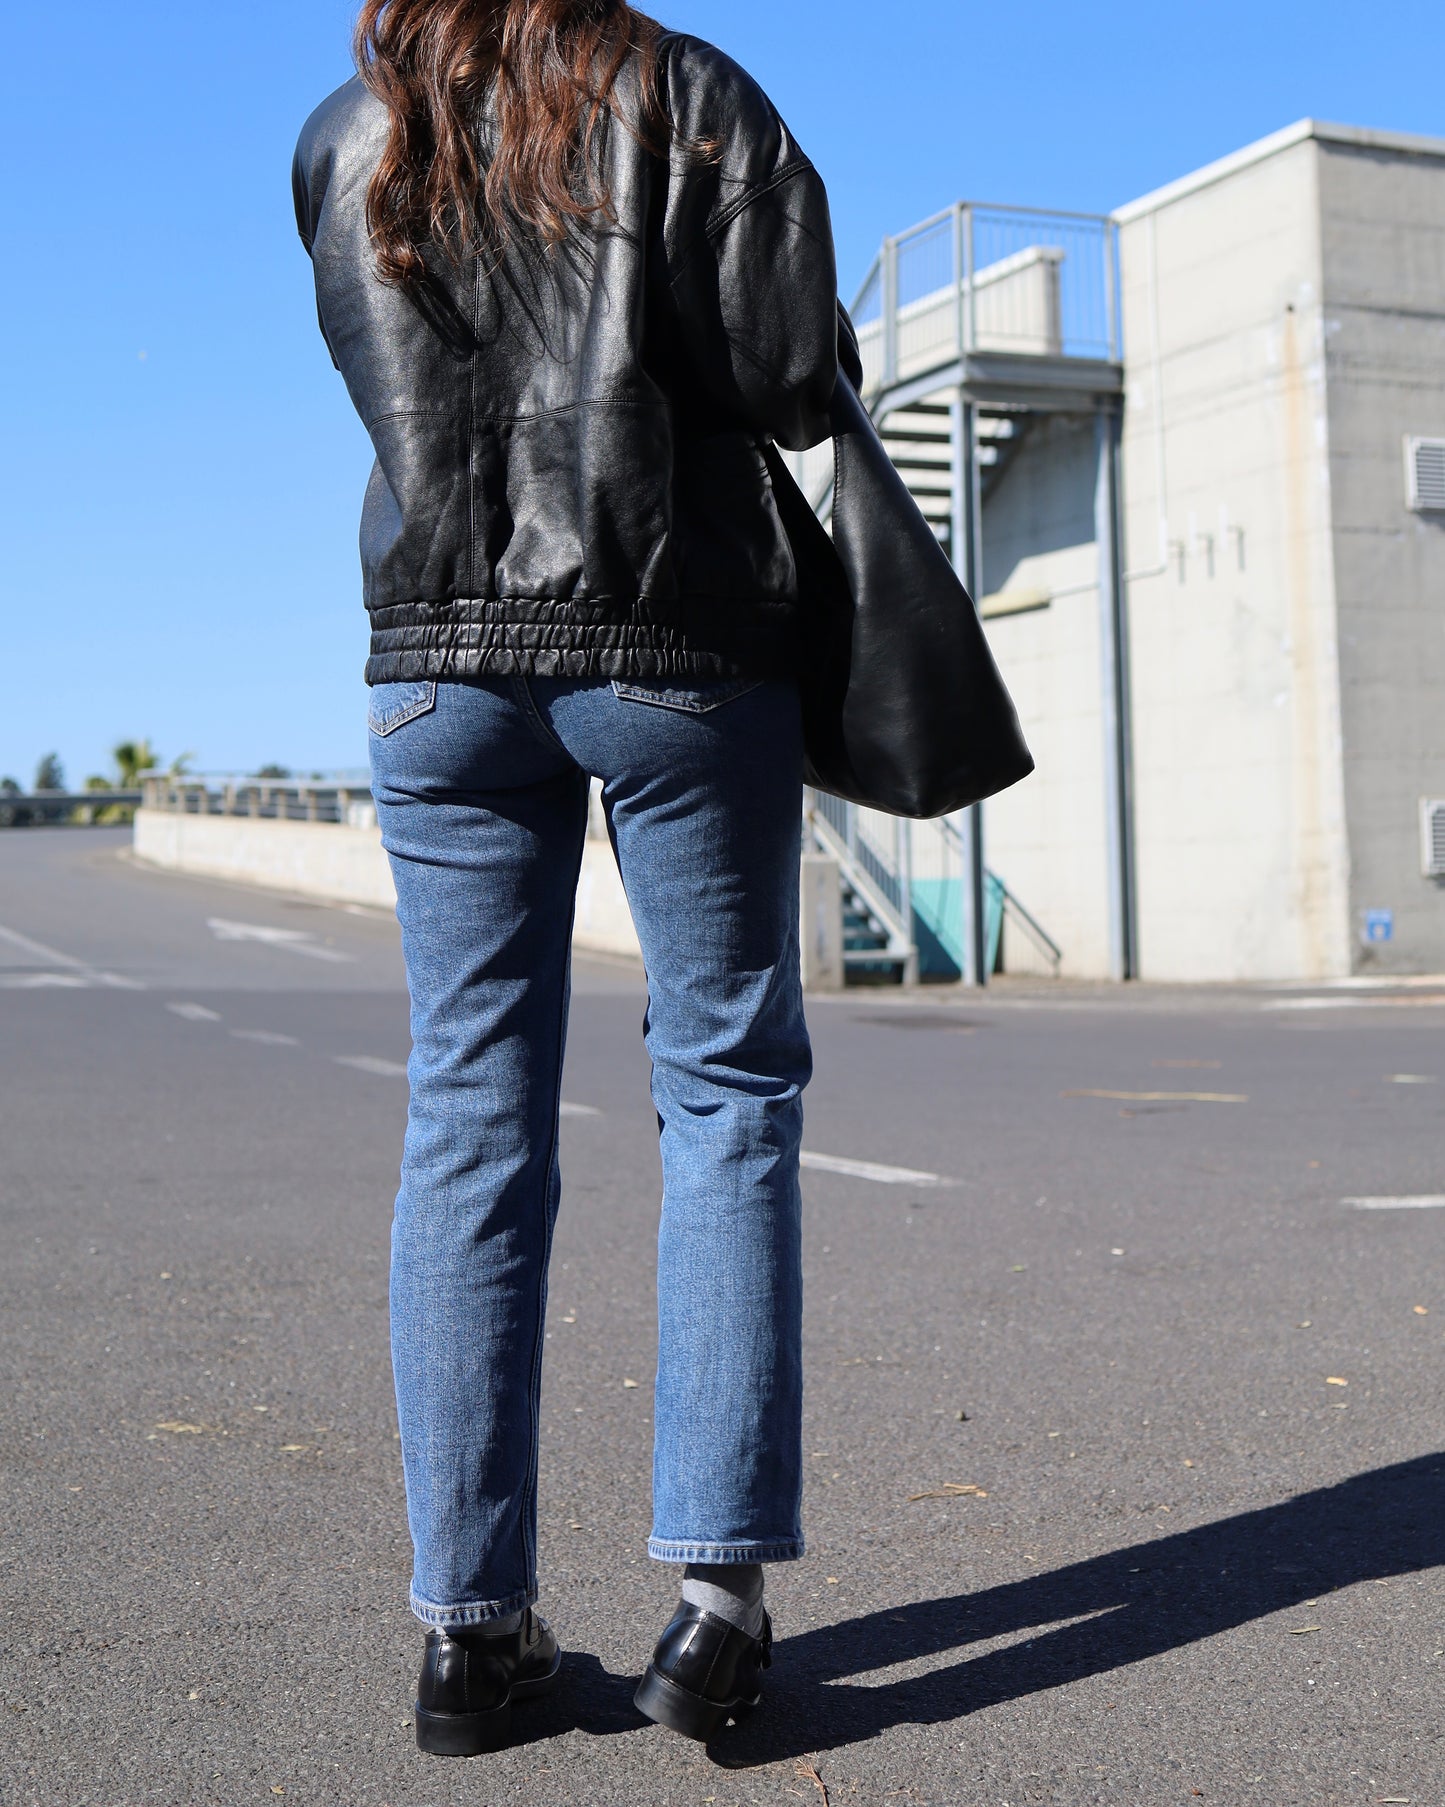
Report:
[{"label": "grey metal outdoor staircase with railed landing beside the building", "polygon": [[[1118,613],[1123,370],[1116,228],[1095,215],[959,202],[883,242],[853,320],[863,399],[975,600],[983,596],[984,504],[1024,454],[1033,423],[1044,414],[1093,414],[1098,421],[1100,598],[1107,614],[1105,663],[1113,658],[1118,676],[1111,862],[1122,900],[1116,965],[1127,976],[1133,931]],[[793,470],[827,520],[831,446],[795,454]],[[943,822],[896,822],[809,793],[807,835],[842,873],[849,978],[883,974],[912,983],[919,976],[963,976],[983,985],[1004,920],[1057,970],[1058,947],[1004,882],[984,871],[981,810]]]}]

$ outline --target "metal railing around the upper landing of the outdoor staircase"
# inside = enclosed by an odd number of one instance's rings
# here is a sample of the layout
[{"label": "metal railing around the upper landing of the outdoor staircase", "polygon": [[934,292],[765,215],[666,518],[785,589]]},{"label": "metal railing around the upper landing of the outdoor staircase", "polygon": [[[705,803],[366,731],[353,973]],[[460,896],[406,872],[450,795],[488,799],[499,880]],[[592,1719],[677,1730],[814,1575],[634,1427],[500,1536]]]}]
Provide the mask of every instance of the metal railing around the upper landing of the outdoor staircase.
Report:
[{"label": "metal railing around the upper landing of the outdoor staircase", "polygon": [[975,351],[1116,363],[1118,228],[959,201],[883,240],[853,322],[865,392]]}]

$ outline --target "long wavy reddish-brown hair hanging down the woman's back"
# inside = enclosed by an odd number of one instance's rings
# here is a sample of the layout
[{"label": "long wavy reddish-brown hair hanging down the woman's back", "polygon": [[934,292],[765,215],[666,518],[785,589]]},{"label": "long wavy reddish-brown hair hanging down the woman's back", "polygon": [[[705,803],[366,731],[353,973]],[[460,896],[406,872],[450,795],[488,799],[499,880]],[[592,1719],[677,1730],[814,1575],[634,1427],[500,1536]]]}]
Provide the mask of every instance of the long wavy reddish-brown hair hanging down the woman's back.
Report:
[{"label": "long wavy reddish-brown hair hanging down the woman's back", "polygon": [[[612,219],[598,157],[609,117],[667,145],[659,36],[627,0],[365,0],[356,65],[392,121],[367,195],[383,280],[417,287],[428,246],[455,264],[517,228],[556,246]],[[618,78],[632,54],[629,114]],[[493,90],[484,154],[477,125]]]}]

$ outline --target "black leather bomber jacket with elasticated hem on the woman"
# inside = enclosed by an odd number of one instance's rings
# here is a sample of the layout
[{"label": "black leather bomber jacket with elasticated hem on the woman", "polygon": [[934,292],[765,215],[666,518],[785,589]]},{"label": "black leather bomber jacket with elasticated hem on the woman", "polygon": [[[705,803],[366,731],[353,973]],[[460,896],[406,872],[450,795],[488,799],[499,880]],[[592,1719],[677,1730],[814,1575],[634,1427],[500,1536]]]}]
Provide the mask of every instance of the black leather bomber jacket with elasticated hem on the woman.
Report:
[{"label": "black leather bomber jacket with elasticated hem on the woman", "polygon": [[[719,51],[668,34],[663,92],[670,155],[607,130],[614,226],[555,255],[513,239],[500,266],[434,258],[419,302],[367,237],[381,103],[350,81],[302,132],[322,331],[376,448],[368,683],[791,669],[797,573],[762,446],[829,430],[827,197]],[[686,148],[710,139],[712,159]]]}]

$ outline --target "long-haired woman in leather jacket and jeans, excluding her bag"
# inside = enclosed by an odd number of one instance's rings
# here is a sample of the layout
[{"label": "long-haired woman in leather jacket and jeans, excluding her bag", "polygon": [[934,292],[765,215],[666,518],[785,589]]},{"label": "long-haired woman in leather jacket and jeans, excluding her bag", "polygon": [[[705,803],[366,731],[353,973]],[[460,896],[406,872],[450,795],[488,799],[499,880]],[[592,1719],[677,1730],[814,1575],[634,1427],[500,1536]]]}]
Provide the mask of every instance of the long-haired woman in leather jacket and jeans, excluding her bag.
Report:
[{"label": "long-haired woman in leather jacket and jeans, excluding her bag", "polygon": [[367,0],[294,190],[376,446],[374,795],[412,994],[392,1353],[423,1749],[558,1675],[536,1440],[589,779],[641,940],[661,1126],[638,1691],[706,1738],[802,1556],[797,575],[764,445],[827,435],[822,183],[726,56],[623,0]]}]

